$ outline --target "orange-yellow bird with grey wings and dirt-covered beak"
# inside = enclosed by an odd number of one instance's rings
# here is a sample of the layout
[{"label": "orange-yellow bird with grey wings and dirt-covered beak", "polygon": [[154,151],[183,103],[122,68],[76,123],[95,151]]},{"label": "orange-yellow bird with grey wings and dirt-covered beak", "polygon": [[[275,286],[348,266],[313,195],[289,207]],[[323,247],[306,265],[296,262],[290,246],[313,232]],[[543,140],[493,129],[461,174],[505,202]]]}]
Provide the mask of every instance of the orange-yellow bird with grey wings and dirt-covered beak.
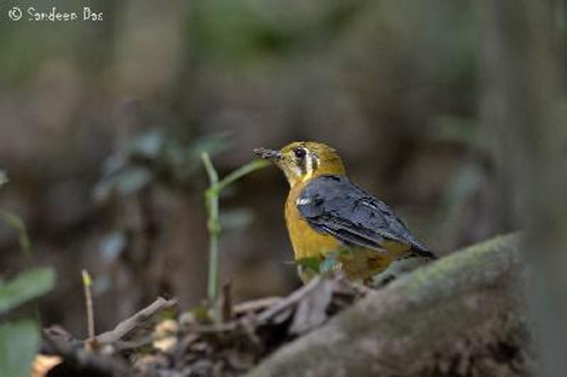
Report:
[{"label": "orange-yellow bird with grey wings and dirt-covered beak", "polygon": [[280,150],[257,148],[285,174],[290,186],[285,220],[306,283],[315,272],[301,261],[335,255],[349,281],[370,285],[393,261],[434,253],[412,235],[394,211],[347,177],[337,150],[321,142],[291,142]]}]

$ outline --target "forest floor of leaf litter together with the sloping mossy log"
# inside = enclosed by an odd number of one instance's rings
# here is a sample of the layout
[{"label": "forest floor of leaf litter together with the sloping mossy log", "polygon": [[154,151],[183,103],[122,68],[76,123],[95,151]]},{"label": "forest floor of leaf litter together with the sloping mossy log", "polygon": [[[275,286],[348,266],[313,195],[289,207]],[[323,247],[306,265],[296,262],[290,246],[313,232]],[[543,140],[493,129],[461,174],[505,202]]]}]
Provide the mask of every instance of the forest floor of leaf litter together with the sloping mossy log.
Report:
[{"label": "forest floor of leaf litter together with the sloping mossy log", "polygon": [[530,376],[518,245],[495,237],[378,289],[335,276],[237,305],[225,286],[189,311],[157,298],[86,340],[45,329],[34,376]]}]

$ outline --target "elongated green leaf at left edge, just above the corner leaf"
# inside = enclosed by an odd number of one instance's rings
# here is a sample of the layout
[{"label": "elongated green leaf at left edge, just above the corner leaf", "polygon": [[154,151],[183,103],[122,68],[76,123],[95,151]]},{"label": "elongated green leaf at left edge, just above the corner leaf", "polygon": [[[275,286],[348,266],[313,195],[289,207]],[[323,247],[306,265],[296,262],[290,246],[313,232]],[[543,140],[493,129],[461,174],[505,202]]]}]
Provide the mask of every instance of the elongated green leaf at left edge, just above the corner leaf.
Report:
[{"label": "elongated green leaf at left edge, just above the corner leaf", "polygon": [[0,281],[0,314],[49,292],[55,284],[55,271],[39,267],[18,274],[11,281]]}]

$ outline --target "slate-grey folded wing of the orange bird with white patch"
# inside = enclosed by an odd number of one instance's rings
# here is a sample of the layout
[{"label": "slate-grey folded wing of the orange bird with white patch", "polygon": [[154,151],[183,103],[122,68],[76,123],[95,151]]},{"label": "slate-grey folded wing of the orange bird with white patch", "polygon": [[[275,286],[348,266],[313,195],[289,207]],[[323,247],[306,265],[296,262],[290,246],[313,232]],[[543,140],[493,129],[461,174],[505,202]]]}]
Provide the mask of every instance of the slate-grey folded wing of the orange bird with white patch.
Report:
[{"label": "slate-grey folded wing of the orange bird with white patch", "polygon": [[395,240],[408,244],[417,254],[434,257],[386,203],[354,186],[345,176],[313,179],[301,191],[296,205],[311,227],[347,244],[381,250],[385,240]]}]

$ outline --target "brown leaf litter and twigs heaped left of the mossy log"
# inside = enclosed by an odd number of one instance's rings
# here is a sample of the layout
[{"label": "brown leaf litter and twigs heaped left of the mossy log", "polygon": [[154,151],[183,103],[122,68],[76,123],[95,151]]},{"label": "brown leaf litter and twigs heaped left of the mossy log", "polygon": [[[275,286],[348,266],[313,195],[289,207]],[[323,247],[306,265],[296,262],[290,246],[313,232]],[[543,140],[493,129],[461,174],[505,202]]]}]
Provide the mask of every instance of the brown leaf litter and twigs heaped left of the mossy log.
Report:
[{"label": "brown leaf litter and twigs heaped left of the mossy log", "polygon": [[[232,305],[225,286],[219,305],[179,313],[175,299],[151,305],[92,339],[61,327],[43,331],[40,356],[60,356],[45,376],[242,376],[279,347],[322,326],[369,288],[340,276],[315,277],[284,298]],[[215,314],[217,313],[217,314]]]}]

